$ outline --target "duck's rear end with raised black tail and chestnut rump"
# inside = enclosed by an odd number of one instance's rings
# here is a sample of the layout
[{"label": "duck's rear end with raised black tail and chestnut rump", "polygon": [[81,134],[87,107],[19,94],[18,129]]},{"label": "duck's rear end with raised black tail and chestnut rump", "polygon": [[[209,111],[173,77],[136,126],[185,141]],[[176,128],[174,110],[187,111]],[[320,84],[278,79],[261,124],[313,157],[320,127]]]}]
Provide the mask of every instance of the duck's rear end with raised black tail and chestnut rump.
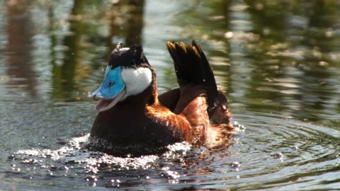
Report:
[{"label": "duck's rear end with raised black tail and chestnut rump", "polygon": [[[186,116],[192,134],[209,134],[213,129],[232,127],[227,98],[217,90],[212,68],[200,45],[193,40],[191,45],[167,42],[166,47],[174,59],[180,87],[176,90],[179,100],[173,111]],[[209,137],[201,136],[197,144]]]}]

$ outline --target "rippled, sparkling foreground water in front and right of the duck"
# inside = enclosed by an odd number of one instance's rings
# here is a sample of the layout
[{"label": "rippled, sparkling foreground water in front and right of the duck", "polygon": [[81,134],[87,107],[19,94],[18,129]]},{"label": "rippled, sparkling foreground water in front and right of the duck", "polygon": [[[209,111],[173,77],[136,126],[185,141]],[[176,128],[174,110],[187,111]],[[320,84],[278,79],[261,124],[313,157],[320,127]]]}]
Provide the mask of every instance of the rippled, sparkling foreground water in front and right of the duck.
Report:
[{"label": "rippled, sparkling foreground water in front and right of the duck", "polygon": [[86,134],[60,149],[26,149],[9,156],[6,180],[132,190],[140,185],[151,190],[287,190],[339,184],[338,130],[256,112],[234,118],[237,131],[222,149],[191,150],[179,143],[162,155],[120,158],[82,149]]}]

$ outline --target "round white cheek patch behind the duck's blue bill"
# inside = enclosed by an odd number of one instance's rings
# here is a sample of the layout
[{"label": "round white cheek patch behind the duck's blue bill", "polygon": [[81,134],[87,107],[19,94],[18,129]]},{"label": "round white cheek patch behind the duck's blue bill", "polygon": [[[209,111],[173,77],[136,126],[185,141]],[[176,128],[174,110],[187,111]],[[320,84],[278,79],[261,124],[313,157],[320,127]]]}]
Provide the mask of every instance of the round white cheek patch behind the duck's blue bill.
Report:
[{"label": "round white cheek patch behind the duck's blue bill", "polygon": [[134,96],[142,91],[145,91],[147,87],[152,83],[152,72],[148,68],[123,68],[122,79],[125,83],[125,95],[122,100],[128,96]]}]

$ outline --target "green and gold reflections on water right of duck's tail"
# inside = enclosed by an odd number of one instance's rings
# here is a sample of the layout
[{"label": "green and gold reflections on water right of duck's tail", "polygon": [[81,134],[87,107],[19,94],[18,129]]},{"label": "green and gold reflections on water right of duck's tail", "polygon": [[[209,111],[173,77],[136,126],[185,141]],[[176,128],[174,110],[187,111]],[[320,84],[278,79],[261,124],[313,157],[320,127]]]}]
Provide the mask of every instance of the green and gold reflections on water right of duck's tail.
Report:
[{"label": "green and gold reflections on water right of duck's tail", "polygon": [[211,43],[212,64],[224,60],[214,65],[217,81],[235,103],[314,121],[338,110],[336,1],[209,1],[203,7],[180,14],[176,18],[186,19],[174,24],[190,23],[198,30],[188,37]]}]

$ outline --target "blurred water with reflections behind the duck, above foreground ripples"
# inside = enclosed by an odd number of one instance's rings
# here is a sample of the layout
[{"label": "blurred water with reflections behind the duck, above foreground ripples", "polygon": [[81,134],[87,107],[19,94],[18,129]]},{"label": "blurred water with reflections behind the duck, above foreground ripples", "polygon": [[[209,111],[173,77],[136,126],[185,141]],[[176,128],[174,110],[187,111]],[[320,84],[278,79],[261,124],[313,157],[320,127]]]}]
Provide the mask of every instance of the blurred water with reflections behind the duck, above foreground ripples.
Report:
[{"label": "blurred water with reflections behind the duck, above foreground ripples", "polygon": [[[166,41],[195,39],[235,120],[251,126],[273,117],[283,121],[271,127],[287,132],[301,124],[290,127],[286,119],[317,125],[313,136],[332,139],[323,149],[335,149],[337,158],[339,13],[336,0],[2,0],[0,156],[37,145],[54,149],[60,139],[88,133],[96,112],[87,95],[118,42],[143,46],[162,93],[177,87]],[[6,159],[0,166],[1,179]]]}]

